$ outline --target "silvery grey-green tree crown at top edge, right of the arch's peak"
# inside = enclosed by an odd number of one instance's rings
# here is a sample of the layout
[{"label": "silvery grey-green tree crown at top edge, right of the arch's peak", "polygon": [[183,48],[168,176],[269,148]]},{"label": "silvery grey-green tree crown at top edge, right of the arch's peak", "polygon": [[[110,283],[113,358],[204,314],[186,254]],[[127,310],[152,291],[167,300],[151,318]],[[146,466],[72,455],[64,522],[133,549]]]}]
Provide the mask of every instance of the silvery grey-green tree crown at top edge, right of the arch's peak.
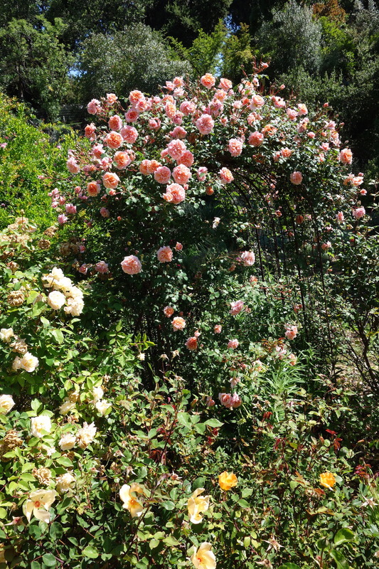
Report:
[{"label": "silvery grey-green tree crown at top edge, right of the arch's peak", "polygon": [[263,23],[257,45],[271,59],[274,74],[299,65],[316,73],[321,64],[321,37],[321,24],[312,18],[312,9],[291,0],[272,21]]}]

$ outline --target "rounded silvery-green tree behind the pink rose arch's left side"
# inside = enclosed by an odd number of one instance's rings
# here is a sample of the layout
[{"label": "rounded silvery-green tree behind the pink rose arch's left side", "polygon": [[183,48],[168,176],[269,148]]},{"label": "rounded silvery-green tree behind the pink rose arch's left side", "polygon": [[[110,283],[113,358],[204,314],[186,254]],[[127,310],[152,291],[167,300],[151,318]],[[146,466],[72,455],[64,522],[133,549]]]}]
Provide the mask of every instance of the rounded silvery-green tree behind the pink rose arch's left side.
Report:
[{"label": "rounded silvery-green tree behind the pink rose arch's left side", "polygon": [[186,75],[186,60],[169,58],[169,48],[159,32],[143,23],[105,36],[97,33],[82,44],[78,64],[83,97],[105,92],[154,91],[167,77]]}]

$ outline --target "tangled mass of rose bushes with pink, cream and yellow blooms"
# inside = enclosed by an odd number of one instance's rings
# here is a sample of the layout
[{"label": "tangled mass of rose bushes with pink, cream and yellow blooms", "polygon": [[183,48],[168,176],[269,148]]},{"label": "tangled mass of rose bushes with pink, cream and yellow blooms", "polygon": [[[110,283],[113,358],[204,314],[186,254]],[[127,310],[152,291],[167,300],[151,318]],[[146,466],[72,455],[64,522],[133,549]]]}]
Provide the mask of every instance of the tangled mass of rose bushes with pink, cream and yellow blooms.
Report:
[{"label": "tangled mass of rose bushes with pink, cream and yellow blooms", "polygon": [[0,569],[378,566],[364,178],[266,68],[90,101],[56,222],[1,232]]}]

